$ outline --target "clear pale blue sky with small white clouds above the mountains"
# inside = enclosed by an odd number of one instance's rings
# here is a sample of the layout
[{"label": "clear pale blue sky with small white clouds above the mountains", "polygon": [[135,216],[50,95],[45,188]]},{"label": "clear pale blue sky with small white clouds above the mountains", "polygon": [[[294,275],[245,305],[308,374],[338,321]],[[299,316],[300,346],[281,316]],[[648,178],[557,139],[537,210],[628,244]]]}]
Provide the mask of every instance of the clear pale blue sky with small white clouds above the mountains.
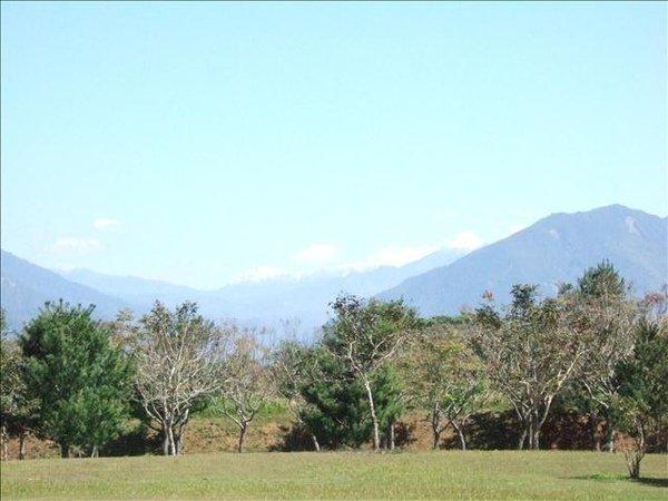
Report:
[{"label": "clear pale blue sky with small white clouds above the mountains", "polygon": [[668,212],[667,7],[1,4],[1,245],[198,288]]}]

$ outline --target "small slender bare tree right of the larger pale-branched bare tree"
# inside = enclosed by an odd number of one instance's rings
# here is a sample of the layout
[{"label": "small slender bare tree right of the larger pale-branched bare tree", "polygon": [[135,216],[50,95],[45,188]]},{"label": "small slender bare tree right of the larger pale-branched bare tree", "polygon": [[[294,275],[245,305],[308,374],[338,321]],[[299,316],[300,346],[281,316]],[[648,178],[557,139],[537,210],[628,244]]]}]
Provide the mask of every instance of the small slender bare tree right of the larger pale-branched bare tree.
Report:
[{"label": "small slender bare tree right of the larger pale-branched bare tree", "polygon": [[272,395],[272,381],[265,365],[266,351],[253,332],[237,333],[224,362],[224,384],[217,406],[239,429],[237,452],[244,451],[248,425]]}]

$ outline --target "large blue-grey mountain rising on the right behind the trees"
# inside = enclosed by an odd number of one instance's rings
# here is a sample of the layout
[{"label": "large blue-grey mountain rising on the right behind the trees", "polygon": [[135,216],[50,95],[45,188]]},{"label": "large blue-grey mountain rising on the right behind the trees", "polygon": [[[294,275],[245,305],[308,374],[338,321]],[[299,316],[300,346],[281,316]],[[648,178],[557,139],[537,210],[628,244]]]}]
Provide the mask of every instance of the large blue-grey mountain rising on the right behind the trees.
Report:
[{"label": "large blue-grey mountain rising on the right behind the trees", "polygon": [[543,295],[610,259],[640,296],[668,282],[668,218],[620,205],[553,214],[448,266],[407,278],[377,297],[403,297],[425,316],[477,306],[484,291],[507,303],[514,284],[538,284]]}]

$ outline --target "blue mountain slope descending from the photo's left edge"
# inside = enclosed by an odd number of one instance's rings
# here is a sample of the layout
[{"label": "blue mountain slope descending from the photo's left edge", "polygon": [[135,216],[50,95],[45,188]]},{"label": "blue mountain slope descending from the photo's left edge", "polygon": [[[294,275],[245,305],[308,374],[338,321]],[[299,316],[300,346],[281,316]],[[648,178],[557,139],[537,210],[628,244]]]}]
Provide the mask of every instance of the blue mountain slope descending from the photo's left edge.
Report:
[{"label": "blue mountain slope descending from the photo's left edge", "polygon": [[70,282],[49,269],[11,253],[0,252],[2,307],[10,330],[20,330],[47,301],[62,298],[71,304],[95,304],[95,316],[112,318],[128,303],[94,288]]}]

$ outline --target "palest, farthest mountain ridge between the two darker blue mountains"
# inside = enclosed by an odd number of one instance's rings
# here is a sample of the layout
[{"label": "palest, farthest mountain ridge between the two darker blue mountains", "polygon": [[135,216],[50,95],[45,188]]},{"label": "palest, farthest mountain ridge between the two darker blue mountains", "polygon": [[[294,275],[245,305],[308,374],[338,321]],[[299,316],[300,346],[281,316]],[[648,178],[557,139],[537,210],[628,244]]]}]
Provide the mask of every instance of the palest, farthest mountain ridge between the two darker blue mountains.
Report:
[{"label": "palest, farthest mountain ridge between the two darker blue mountains", "polygon": [[197,291],[166,282],[118,277],[89,269],[59,273],[72,282],[122,297],[132,305],[136,314],[146,313],[156,299],[168,306],[188,299],[197,302],[203,315],[216,321],[279,327],[281,321],[298,318],[301,328],[307,333],[327,321],[327,305],[338,293],[372,296],[418,273],[452,263],[462,253],[441,249],[401,267],[382,266],[347,274],[320,273],[301,278],[243,282],[216,291]]}]

